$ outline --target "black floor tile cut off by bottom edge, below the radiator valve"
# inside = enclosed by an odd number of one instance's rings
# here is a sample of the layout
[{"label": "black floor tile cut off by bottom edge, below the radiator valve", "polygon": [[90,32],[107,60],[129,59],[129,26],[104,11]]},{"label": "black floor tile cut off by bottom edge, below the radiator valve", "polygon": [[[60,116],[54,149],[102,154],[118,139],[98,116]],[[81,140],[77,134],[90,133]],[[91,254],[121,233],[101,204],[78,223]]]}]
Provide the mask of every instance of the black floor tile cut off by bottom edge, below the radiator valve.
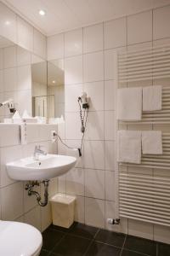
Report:
[{"label": "black floor tile cut off by bottom edge, below the radiator valve", "polygon": [[119,256],[120,254],[121,248],[94,241],[88,248],[88,252],[85,256]]}]

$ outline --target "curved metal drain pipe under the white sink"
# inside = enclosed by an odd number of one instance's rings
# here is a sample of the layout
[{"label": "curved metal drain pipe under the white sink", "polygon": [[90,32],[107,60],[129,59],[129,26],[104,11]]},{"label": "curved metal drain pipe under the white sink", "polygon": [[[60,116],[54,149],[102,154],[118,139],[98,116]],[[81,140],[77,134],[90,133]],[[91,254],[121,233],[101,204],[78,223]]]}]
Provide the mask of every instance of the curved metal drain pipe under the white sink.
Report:
[{"label": "curved metal drain pipe under the white sink", "polygon": [[49,180],[43,180],[42,181],[43,185],[44,185],[44,200],[42,201],[42,197],[41,195],[33,190],[34,186],[39,186],[40,184],[36,181],[36,182],[31,182],[31,183],[27,183],[26,184],[26,190],[28,190],[28,195],[36,195],[37,197],[37,203],[40,207],[45,207],[48,204],[48,185],[49,185]]}]

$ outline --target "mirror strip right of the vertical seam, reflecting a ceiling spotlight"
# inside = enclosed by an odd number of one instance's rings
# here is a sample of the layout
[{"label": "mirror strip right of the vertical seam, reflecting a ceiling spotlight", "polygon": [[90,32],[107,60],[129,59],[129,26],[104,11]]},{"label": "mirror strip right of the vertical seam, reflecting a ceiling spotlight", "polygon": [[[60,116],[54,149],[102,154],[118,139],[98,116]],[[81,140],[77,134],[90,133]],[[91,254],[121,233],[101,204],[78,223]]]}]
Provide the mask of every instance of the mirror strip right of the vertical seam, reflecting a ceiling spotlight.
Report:
[{"label": "mirror strip right of the vertical seam, reflecting a ceiling spotlight", "polygon": [[64,60],[48,61],[48,118],[65,116]]}]

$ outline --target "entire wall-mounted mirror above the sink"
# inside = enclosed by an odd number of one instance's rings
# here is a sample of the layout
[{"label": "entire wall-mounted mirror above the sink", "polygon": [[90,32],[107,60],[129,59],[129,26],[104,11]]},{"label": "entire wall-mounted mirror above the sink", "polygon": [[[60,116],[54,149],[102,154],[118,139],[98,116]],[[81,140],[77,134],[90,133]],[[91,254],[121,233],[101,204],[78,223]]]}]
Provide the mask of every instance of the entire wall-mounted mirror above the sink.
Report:
[{"label": "entire wall-mounted mirror above the sink", "polygon": [[[44,61],[0,36],[0,103],[9,98],[20,115],[64,116],[64,61]],[[1,122],[12,115],[7,106],[0,108]]]}]

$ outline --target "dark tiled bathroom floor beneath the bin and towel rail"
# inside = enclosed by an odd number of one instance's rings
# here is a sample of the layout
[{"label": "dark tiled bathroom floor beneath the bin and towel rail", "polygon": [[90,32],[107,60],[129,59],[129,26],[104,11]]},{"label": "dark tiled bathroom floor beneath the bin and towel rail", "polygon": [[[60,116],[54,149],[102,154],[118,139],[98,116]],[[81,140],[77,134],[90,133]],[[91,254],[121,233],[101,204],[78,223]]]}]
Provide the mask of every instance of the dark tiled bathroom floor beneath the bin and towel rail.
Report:
[{"label": "dark tiled bathroom floor beneath the bin and towel rail", "polygon": [[170,245],[74,223],[42,233],[40,256],[170,256]]}]

